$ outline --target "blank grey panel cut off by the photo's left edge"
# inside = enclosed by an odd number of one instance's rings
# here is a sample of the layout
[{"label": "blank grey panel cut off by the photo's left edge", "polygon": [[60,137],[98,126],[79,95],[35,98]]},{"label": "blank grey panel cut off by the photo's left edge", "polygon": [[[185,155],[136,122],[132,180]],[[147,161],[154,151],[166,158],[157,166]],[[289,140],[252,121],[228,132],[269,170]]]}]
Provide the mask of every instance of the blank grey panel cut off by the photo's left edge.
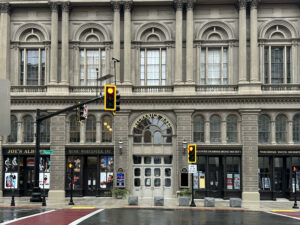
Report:
[{"label": "blank grey panel cut off by the photo's left edge", "polygon": [[0,136],[10,134],[10,83],[0,79]]}]

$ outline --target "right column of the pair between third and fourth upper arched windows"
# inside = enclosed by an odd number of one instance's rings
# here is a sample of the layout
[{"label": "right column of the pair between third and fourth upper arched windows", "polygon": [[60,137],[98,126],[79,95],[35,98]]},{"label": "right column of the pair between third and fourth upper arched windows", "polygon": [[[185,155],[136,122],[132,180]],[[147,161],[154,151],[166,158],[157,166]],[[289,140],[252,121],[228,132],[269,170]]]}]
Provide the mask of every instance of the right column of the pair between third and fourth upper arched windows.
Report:
[{"label": "right column of the pair between third and fourth upper arched windows", "polygon": [[194,0],[188,0],[186,13],[186,82],[194,82]]}]

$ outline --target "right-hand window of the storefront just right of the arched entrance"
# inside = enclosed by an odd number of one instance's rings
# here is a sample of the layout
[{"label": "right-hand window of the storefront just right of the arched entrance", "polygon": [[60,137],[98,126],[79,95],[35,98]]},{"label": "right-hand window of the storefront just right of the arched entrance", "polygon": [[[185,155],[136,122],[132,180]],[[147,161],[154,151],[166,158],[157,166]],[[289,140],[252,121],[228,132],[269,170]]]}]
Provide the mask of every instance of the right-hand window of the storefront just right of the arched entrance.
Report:
[{"label": "right-hand window of the storefront just right of the arched entrance", "polygon": [[241,189],[240,157],[226,157],[226,188],[228,190]]}]

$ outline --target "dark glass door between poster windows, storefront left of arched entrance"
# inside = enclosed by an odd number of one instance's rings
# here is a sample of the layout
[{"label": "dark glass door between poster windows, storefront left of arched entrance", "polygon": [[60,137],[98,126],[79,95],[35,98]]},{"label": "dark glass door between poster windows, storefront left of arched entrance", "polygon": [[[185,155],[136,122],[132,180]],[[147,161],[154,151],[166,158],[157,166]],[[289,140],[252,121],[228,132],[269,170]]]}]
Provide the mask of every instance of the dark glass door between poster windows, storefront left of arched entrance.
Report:
[{"label": "dark glass door between poster windows, storefront left of arched entrance", "polygon": [[95,196],[97,192],[97,156],[87,156],[84,179],[84,195]]}]

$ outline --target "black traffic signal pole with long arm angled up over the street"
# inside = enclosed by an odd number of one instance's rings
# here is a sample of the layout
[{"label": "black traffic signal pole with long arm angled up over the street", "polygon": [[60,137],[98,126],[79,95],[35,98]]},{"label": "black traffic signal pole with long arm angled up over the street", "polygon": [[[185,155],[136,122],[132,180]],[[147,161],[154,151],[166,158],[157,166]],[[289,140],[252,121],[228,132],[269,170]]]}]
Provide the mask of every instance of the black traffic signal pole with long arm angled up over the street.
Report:
[{"label": "black traffic signal pole with long arm angled up over the street", "polygon": [[34,156],[34,159],[35,159],[35,162],[34,162],[34,188],[33,188],[33,191],[32,191],[31,198],[30,198],[30,202],[42,202],[41,189],[39,187],[39,159],[40,159],[40,128],[41,128],[41,122],[43,120],[49,119],[53,116],[57,116],[61,113],[71,111],[71,110],[73,110],[75,108],[78,108],[80,106],[83,106],[83,105],[86,105],[86,104],[89,104],[89,103],[92,103],[92,102],[96,102],[99,99],[103,99],[103,96],[102,95],[97,96],[97,97],[92,98],[92,99],[90,99],[86,102],[72,105],[70,107],[67,107],[67,108],[62,109],[62,110],[58,110],[54,113],[51,113],[49,115],[42,116],[42,117],[40,116],[40,109],[36,110],[36,145],[35,145],[35,156]]}]

